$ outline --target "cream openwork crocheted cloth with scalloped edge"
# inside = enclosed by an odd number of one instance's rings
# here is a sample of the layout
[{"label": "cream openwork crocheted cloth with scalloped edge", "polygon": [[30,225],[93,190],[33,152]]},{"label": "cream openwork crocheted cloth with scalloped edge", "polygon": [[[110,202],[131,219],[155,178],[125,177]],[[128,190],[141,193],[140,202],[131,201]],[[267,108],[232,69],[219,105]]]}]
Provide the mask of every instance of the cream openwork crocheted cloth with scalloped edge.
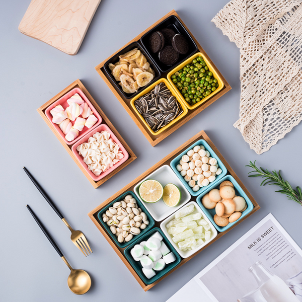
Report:
[{"label": "cream openwork crocheted cloth with scalloped edge", "polygon": [[240,118],[257,154],[302,118],[302,0],[232,0],[212,20],[240,48]]}]

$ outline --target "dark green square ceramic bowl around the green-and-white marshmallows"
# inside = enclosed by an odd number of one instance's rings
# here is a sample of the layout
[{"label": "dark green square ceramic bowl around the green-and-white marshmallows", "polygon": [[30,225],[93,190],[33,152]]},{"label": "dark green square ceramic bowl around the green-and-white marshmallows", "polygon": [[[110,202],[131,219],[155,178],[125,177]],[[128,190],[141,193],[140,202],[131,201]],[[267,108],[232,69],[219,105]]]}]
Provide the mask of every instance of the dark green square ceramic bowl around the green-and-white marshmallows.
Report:
[{"label": "dark green square ceramic bowl around the green-and-white marshmallows", "polygon": [[[174,262],[166,264],[166,266],[165,266],[165,268],[163,270],[156,271],[156,275],[154,277],[148,279],[144,275],[144,273],[142,272],[142,266],[140,265],[140,261],[135,261],[132,258],[131,254],[130,254],[130,251],[131,251],[131,249],[136,244],[139,244],[142,241],[147,241],[155,232],[159,232],[163,236],[164,243],[169,248],[169,250],[171,252],[173,252],[173,254],[175,255],[176,260]],[[169,242],[169,240],[166,238],[166,236],[164,235],[163,231],[161,229],[159,229],[159,228],[154,228],[154,229],[150,230],[149,232],[145,233],[140,238],[136,239],[134,242],[131,243],[131,245],[129,245],[124,250],[124,254],[125,254],[125,257],[128,260],[128,262],[131,264],[131,266],[134,268],[135,272],[139,275],[140,279],[142,279],[145,284],[152,284],[152,283],[154,283],[156,280],[160,279],[161,277],[163,277],[164,275],[166,275],[170,270],[172,270],[174,267],[176,267],[180,263],[180,261],[181,261],[181,258],[179,257],[178,253],[176,252],[176,250],[174,249],[174,247],[171,245],[171,243]]]}]

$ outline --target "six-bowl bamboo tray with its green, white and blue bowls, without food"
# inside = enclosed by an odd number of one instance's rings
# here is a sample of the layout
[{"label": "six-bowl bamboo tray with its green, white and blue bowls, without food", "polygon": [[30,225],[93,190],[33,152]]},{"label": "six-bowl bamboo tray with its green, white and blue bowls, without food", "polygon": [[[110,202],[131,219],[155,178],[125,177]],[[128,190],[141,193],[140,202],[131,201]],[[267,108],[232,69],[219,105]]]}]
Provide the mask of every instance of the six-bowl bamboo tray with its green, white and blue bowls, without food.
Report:
[{"label": "six-bowl bamboo tray with its green, white and blue bowls, without food", "polygon": [[[221,173],[221,175],[216,177],[215,181],[205,187],[201,187],[197,192],[194,192],[194,195],[192,195],[183,184],[181,175],[177,172],[177,170],[175,171],[173,167],[175,167],[175,165],[179,162],[183,155],[187,154],[189,149],[192,149],[196,145],[203,145],[205,147],[205,150],[208,150],[208,152],[210,153],[211,158],[217,160],[219,168],[221,168],[223,172]],[[143,202],[139,196],[138,187],[145,179],[157,180],[162,185],[166,185],[168,183],[174,183],[175,185],[177,185],[182,193],[179,204],[174,207],[168,207],[162,200],[159,200],[156,203]],[[236,194],[245,198],[247,207],[242,211],[242,215],[237,221],[229,223],[227,226],[224,226],[224,228],[221,228],[213,221],[214,209],[205,209],[201,204],[201,199],[211,189],[219,189],[219,185],[223,181],[231,181],[233,183]],[[146,214],[147,219],[149,220],[149,224],[144,230],[141,230],[140,234],[133,236],[133,238],[131,237],[132,239],[129,240],[129,242],[123,242],[121,244],[117,241],[115,235],[110,232],[110,227],[107,225],[107,223],[102,221],[102,217],[103,214],[109,209],[109,207],[112,207],[116,202],[122,201],[125,196],[129,194],[132,195],[133,198],[135,198],[137,205]],[[191,204],[194,204],[196,211],[202,214],[202,218],[205,219],[210,226],[211,237],[209,241],[206,241],[203,245],[197,247],[195,251],[190,250],[182,252],[178,249],[177,244],[172,241],[171,237],[169,237],[166,225],[175,217],[177,212],[181,211]],[[104,201],[97,208],[92,210],[88,215],[96,224],[97,228],[100,230],[109,244],[112,246],[114,251],[118,254],[121,260],[130,270],[140,286],[145,291],[147,291],[155,284],[163,280],[165,277],[167,277],[174,270],[176,270],[179,266],[189,261],[207,246],[232,230],[236,225],[253,214],[259,208],[260,206],[258,205],[258,203],[240,181],[230,165],[221,156],[218,149],[215,147],[206,133],[204,131],[200,131],[191,139],[178,147],[176,150],[174,150],[167,157],[165,157],[156,165],[134,179],[120,191],[115,193],[112,197]],[[161,236],[163,237],[163,242],[168,246],[169,250],[175,254],[176,260],[173,263],[168,264],[165,269],[160,271],[156,276],[150,279],[146,279],[141,273],[139,262],[134,261],[133,258],[131,258],[130,249],[135,244],[146,241],[156,232],[159,232],[161,234]]]}]

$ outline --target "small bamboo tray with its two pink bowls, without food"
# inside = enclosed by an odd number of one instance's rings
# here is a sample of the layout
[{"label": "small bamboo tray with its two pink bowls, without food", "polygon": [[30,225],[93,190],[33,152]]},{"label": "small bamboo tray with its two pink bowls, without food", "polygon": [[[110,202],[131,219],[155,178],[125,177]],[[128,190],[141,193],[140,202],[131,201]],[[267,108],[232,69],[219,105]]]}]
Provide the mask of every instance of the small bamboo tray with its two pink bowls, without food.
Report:
[{"label": "small bamboo tray with its two pink bowls, without food", "polygon": [[[71,142],[68,142],[65,139],[65,136],[62,134],[59,125],[51,121],[51,115],[49,111],[57,104],[62,104],[62,105],[63,103],[67,104],[66,100],[70,98],[72,95],[74,95],[75,93],[78,93],[82,97],[82,99],[89,105],[92,113],[95,116],[97,116],[98,122],[89,129],[85,127],[83,131],[81,131],[81,134],[76,139],[74,139]],[[118,133],[118,131],[114,128],[112,123],[109,121],[107,116],[98,106],[96,101],[93,99],[93,97],[90,95],[90,93],[84,87],[84,85],[80,80],[77,80],[73,82],[71,85],[69,85],[68,87],[66,87],[56,96],[54,96],[51,100],[49,100],[40,108],[38,108],[37,111],[42,116],[42,118],[47,123],[47,125],[52,130],[52,132],[55,134],[55,136],[58,138],[58,140],[61,142],[61,144],[64,146],[64,148],[67,150],[70,157],[74,160],[74,162],[79,166],[79,168],[85,174],[85,176],[87,177],[87,179],[90,181],[90,183],[93,185],[94,188],[99,187],[101,184],[103,184],[105,181],[107,181],[109,178],[111,178],[113,175],[115,175],[117,172],[125,168],[127,165],[129,165],[131,162],[133,162],[136,159],[136,156],[133,153],[133,151],[130,149],[130,147],[127,145],[127,143],[124,141],[122,136]],[[97,131],[101,132],[103,130],[107,130],[110,133],[110,136],[119,145],[124,155],[124,158],[119,163],[113,165],[113,167],[111,167],[107,171],[102,172],[99,177],[96,177],[92,173],[92,171],[88,169],[88,166],[83,162],[83,158],[78,154],[76,147],[80,143],[87,141],[88,137],[92,136]]]}]

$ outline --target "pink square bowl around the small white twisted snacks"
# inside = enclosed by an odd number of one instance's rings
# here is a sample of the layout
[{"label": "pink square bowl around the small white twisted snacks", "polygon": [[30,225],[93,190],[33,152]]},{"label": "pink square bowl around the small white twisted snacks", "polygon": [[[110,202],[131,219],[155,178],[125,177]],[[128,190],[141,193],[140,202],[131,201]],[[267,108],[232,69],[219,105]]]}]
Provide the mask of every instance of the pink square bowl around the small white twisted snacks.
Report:
[{"label": "pink square bowl around the small white twisted snacks", "polygon": [[[109,168],[107,171],[102,172],[99,176],[96,176],[92,171],[90,171],[88,169],[88,166],[84,163],[84,158],[78,153],[77,147],[80,144],[84,143],[84,142],[88,142],[89,137],[93,136],[95,133],[101,132],[101,131],[105,131],[105,130],[107,130],[110,133],[110,138],[112,138],[113,141],[119,145],[120,150],[121,150],[122,154],[124,155],[124,157],[119,162],[117,162],[116,164],[114,164],[111,168]],[[90,131],[85,136],[83,136],[80,140],[78,140],[71,147],[71,150],[72,150],[72,153],[74,154],[74,156],[77,158],[77,160],[82,165],[82,167],[88,172],[88,174],[91,176],[91,178],[94,181],[99,181],[100,179],[104,178],[106,175],[108,175],[114,169],[116,169],[121,164],[123,164],[128,159],[128,157],[129,157],[129,154],[126,151],[126,149],[124,148],[124,146],[122,145],[122,143],[118,140],[118,138],[114,135],[114,133],[110,130],[110,128],[107,125],[105,125],[105,124],[99,125],[97,128],[94,128],[92,131]]]}]

